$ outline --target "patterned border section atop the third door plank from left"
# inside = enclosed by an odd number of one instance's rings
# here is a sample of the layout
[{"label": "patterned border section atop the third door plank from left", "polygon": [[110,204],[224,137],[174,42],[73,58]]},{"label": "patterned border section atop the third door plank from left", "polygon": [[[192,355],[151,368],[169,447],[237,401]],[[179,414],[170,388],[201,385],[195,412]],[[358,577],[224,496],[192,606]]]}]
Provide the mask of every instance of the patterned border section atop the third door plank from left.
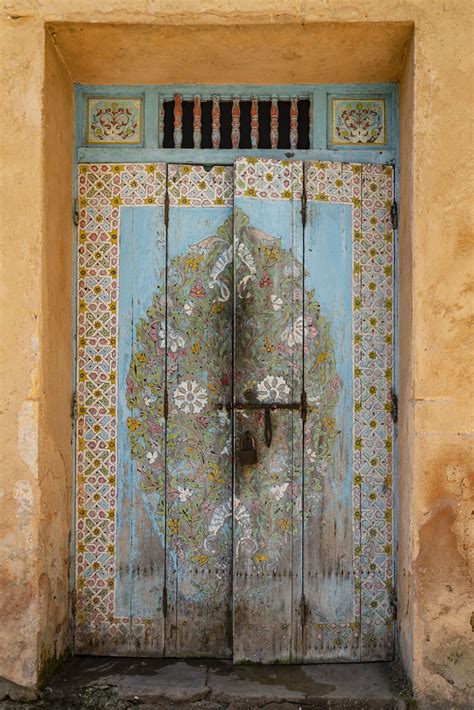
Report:
[{"label": "patterned border section atop the third door plank from left", "polygon": [[303,163],[300,160],[239,158],[235,161],[234,169],[235,197],[266,200],[301,198]]}]

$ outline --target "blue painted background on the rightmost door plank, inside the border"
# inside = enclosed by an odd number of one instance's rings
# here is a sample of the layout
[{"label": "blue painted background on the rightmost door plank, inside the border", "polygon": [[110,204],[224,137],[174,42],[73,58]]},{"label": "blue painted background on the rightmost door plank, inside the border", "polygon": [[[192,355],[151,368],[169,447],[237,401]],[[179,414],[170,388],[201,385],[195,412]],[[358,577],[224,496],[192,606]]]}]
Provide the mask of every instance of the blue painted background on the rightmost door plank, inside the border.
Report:
[{"label": "blue painted background on the rightmost door plank, inside the border", "polygon": [[[321,455],[321,440],[304,447],[304,596],[307,605],[303,658],[356,660],[358,649],[333,645],[321,648],[317,624],[349,623],[355,609],[352,538],[352,210],[348,205],[308,202],[305,228],[305,289],[314,292],[320,319],[314,326],[321,337],[328,329],[335,355],[338,395],[332,413],[337,432],[332,451]],[[326,351],[327,354],[327,351]],[[330,353],[329,353],[330,354]],[[305,358],[305,388],[310,413],[308,426],[322,406],[315,373],[324,373],[324,360]],[[324,375],[323,375],[324,376]],[[336,379],[337,378],[337,379]],[[327,383],[327,386],[330,382]],[[354,652],[357,654],[354,657]]]}]

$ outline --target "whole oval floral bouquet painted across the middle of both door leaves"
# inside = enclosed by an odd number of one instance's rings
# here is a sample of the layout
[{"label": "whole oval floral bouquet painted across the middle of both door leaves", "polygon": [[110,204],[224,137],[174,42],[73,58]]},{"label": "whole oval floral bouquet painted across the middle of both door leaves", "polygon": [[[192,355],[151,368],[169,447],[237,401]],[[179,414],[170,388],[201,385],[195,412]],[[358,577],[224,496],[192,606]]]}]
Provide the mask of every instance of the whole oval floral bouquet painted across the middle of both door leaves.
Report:
[{"label": "whole oval floral bouquet painted across the middle of both door leaves", "polygon": [[[275,298],[272,296],[275,294],[270,289],[259,288],[257,299],[255,290],[252,290],[251,308],[252,312],[259,314],[259,328],[246,328],[248,336],[239,336],[245,341],[245,356],[239,369],[247,368],[248,372],[252,372],[255,369],[254,363],[259,362],[262,349],[266,348],[266,370],[276,374],[265,375],[258,382],[248,382],[248,386],[256,387],[257,397],[262,402],[289,401],[295,383],[290,387],[286,375],[278,373],[291,370],[295,357],[293,346],[299,346],[302,351],[303,333],[306,330],[311,335],[311,338],[307,338],[310,360],[318,363],[321,352],[325,354],[325,367],[315,367],[312,371],[313,387],[321,392],[323,403],[317,416],[312,417],[314,426],[311,424],[308,429],[309,441],[312,441],[312,437],[320,436],[324,428],[322,422],[332,416],[338,397],[337,388],[327,386],[337,377],[329,324],[319,315],[319,304],[312,298],[308,298],[306,328],[303,327],[302,319],[293,323],[290,293],[294,289],[294,273],[302,274],[302,270],[291,251],[282,248],[280,240],[255,229],[241,210],[235,210],[233,219],[226,220],[215,237],[201,240],[191,246],[187,253],[173,260],[170,272],[179,274],[180,278],[176,282],[172,279],[168,286],[168,311],[173,314],[172,325],[168,323],[168,357],[172,362],[169,376],[170,382],[177,382],[170,403],[172,407],[167,434],[168,519],[171,517],[173,520],[171,528],[168,522],[168,533],[170,545],[178,556],[186,555],[194,559],[196,555],[206,555],[203,565],[230,563],[230,418],[225,411],[216,412],[216,407],[230,398],[232,249],[226,245],[232,243],[233,227],[234,233],[240,234],[236,248],[237,273],[240,277],[238,295],[246,299],[250,293],[249,279],[256,278],[257,274],[271,274],[279,284],[279,311],[274,309]],[[278,254],[277,259],[274,258],[275,254]],[[221,287],[211,288],[217,280]],[[228,293],[227,300],[222,300],[223,293]],[[250,304],[246,304],[247,317],[249,307]],[[145,495],[149,491],[159,493],[160,496],[164,495],[161,483],[163,459],[149,456],[153,448],[156,415],[153,404],[147,404],[143,396],[143,383],[146,383],[147,391],[150,387],[158,391],[164,384],[161,370],[155,366],[156,344],[150,338],[153,324],[160,323],[158,346],[164,348],[163,314],[164,300],[161,292],[158,292],[148,309],[148,320],[137,326],[137,344],[141,350],[138,355],[143,357],[137,355],[134,358],[127,387],[128,407],[130,411],[137,412],[137,426],[129,429],[132,454],[143,480]],[[318,330],[312,325],[316,321]],[[293,335],[291,338],[283,337],[289,327]],[[203,333],[206,333],[205,339],[202,338]],[[183,347],[184,343],[186,347]],[[219,370],[209,368],[217,351],[220,353],[221,365],[222,362],[229,363],[229,373],[224,377]],[[179,381],[176,379],[178,371]],[[199,381],[196,379],[198,373]],[[299,390],[296,396],[300,396]],[[263,427],[259,426],[259,429],[263,430]],[[280,427],[275,434],[272,451],[273,448],[278,451],[281,435],[283,429]],[[331,455],[333,440],[334,432],[327,430],[326,444],[321,448],[318,461]],[[286,434],[283,436],[283,447],[287,450]],[[217,455],[211,455],[211,451],[217,452]],[[252,490],[251,482],[242,491],[236,508],[236,520],[246,526],[239,549],[242,553],[250,551],[256,564],[264,561],[275,564],[282,540],[290,529],[290,509],[301,496],[301,482],[292,483],[288,479],[287,463],[286,457],[280,454],[269,459],[269,486],[266,497],[262,499],[260,496],[258,509],[253,505],[258,497]],[[157,508],[159,525],[161,505],[159,503]],[[262,516],[262,511],[267,508],[270,510],[269,506],[273,510],[274,520],[273,532],[268,535],[268,519]],[[261,530],[261,536],[255,532],[257,529]],[[259,560],[256,555],[260,555]],[[213,590],[201,585],[199,592],[212,594]]]}]

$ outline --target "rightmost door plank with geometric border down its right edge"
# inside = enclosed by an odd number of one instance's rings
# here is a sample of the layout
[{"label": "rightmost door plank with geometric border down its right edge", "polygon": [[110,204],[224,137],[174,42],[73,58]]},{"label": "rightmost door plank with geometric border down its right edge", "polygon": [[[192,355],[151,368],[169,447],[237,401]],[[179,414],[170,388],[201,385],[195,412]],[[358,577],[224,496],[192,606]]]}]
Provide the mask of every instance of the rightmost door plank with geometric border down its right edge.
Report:
[{"label": "rightmost door plank with geometric border down its right edge", "polygon": [[393,168],[311,162],[305,178],[306,283],[319,317],[312,357],[305,340],[303,658],[389,660]]}]

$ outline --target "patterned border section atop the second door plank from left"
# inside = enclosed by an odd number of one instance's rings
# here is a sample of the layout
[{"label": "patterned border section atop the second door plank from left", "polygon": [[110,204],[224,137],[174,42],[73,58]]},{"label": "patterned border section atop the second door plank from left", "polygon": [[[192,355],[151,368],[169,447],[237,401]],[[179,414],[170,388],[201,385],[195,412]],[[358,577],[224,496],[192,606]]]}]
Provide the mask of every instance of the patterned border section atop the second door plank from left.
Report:
[{"label": "patterned border section atop the second door plank from left", "polygon": [[170,165],[171,207],[232,207],[234,191],[232,165]]}]

